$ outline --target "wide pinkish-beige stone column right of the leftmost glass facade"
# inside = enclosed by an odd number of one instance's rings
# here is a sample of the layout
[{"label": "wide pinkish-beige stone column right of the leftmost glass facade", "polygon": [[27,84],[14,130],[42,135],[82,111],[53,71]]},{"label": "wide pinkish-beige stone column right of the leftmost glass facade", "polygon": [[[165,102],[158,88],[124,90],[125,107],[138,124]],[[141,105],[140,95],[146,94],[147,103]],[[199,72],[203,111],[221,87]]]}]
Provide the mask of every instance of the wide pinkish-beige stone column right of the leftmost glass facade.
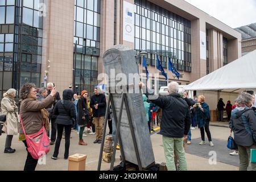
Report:
[{"label": "wide pinkish-beige stone column right of the leftmost glass facade", "polygon": [[[75,2],[69,0],[46,1],[44,18],[42,77],[50,60],[47,82],[54,82],[62,94],[73,82],[73,24]],[[43,81],[43,80],[42,80]]]}]

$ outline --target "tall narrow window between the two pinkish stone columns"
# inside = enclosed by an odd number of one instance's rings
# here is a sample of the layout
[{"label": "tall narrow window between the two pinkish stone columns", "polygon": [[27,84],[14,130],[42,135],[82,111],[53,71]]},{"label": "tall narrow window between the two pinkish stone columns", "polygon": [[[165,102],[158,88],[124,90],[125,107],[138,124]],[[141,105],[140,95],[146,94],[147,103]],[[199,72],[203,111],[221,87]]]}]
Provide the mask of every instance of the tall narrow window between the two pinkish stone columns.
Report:
[{"label": "tall narrow window between the two pinkish stone columns", "polygon": [[73,43],[75,91],[93,92],[100,56],[100,0],[75,0]]}]

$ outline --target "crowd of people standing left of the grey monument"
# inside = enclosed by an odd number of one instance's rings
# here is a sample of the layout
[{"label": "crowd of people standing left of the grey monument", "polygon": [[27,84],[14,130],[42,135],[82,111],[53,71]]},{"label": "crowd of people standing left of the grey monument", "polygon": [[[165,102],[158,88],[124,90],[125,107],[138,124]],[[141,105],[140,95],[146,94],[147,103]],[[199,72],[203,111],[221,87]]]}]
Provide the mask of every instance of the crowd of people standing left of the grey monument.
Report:
[{"label": "crowd of people standing left of the grey monument", "polygon": [[[36,88],[34,84],[27,83],[20,88],[18,110],[14,101],[16,90],[7,90],[1,101],[2,114],[6,115],[2,129],[7,134],[4,152],[13,154],[16,151],[11,148],[11,142],[13,136],[18,134],[19,140],[27,149],[26,135],[38,132],[42,126],[51,141],[49,144],[55,144],[51,157],[55,160],[58,158],[62,138],[65,139],[64,159],[68,159],[72,129],[77,130],[78,144],[81,146],[87,145],[83,140],[86,132],[96,135],[93,143],[101,143],[106,112],[106,97],[101,92],[101,89],[96,87],[94,95],[89,98],[88,91],[83,90],[81,96],[77,96],[69,88],[63,91],[61,100],[60,93],[53,83],[49,82],[47,88]],[[109,128],[112,130],[112,119],[110,118],[109,121]],[[34,159],[27,150],[24,171],[34,171],[37,163],[38,159]]]}]

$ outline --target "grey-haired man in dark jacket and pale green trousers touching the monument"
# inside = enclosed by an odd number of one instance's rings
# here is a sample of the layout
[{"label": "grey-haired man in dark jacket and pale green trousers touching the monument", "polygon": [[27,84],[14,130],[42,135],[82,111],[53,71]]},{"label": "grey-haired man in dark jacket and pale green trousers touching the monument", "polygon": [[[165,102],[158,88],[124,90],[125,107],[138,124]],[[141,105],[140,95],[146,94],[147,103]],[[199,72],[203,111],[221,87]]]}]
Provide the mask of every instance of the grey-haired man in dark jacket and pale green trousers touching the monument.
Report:
[{"label": "grey-haired man in dark jacket and pale green trousers touching the monument", "polygon": [[191,125],[191,115],[187,102],[183,100],[179,92],[179,84],[171,82],[168,84],[169,96],[155,96],[154,91],[146,88],[142,82],[139,84],[143,93],[148,99],[163,110],[160,133],[163,135],[164,154],[166,156],[166,166],[169,171],[175,171],[174,153],[177,156],[178,170],[187,170],[187,160],[185,158],[184,139]]}]

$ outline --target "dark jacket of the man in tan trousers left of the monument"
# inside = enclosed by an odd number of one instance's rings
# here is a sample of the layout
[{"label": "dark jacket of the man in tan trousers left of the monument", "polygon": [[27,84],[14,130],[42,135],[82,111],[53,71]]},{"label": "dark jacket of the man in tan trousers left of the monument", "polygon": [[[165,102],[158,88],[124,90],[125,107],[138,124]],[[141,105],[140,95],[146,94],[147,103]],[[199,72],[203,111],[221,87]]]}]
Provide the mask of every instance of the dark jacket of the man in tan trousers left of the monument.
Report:
[{"label": "dark jacket of the man in tan trousers left of the monument", "polygon": [[[98,109],[94,105],[98,104]],[[106,113],[106,97],[105,94],[93,95],[90,97],[90,107],[93,109],[93,117],[102,117]]]}]

